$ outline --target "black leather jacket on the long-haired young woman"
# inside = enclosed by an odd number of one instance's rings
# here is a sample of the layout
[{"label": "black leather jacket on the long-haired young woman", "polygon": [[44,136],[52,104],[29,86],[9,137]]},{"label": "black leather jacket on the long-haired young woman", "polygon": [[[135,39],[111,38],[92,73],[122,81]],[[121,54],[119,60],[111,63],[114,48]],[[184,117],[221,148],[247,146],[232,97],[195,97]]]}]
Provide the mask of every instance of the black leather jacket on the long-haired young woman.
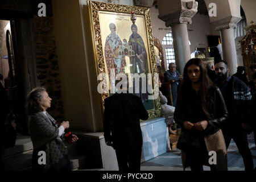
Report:
[{"label": "black leather jacket on the long-haired young woman", "polygon": [[[220,130],[228,118],[228,110],[217,86],[210,85],[205,96],[209,117],[203,113],[199,102],[197,102],[199,99],[195,97],[193,92],[195,92],[193,89],[187,90],[186,98],[181,98],[181,93],[179,92],[174,112],[175,122],[181,126],[182,130],[177,143],[177,148],[181,150],[185,150],[184,147],[189,146],[200,148],[200,140],[203,140],[205,135],[214,134]],[[203,120],[208,121],[208,126],[204,131],[187,130],[183,126],[184,121],[196,123]]]}]

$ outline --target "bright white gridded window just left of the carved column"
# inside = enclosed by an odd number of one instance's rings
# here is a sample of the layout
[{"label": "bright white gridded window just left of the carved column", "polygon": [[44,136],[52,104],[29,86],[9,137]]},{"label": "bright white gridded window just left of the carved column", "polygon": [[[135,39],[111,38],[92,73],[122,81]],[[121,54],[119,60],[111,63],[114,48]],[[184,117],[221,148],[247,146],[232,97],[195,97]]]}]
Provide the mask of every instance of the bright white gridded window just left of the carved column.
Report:
[{"label": "bright white gridded window just left of the carved column", "polygon": [[162,44],[166,48],[166,62],[168,67],[170,63],[175,63],[172,32],[166,34],[166,36],[163,38]]}]

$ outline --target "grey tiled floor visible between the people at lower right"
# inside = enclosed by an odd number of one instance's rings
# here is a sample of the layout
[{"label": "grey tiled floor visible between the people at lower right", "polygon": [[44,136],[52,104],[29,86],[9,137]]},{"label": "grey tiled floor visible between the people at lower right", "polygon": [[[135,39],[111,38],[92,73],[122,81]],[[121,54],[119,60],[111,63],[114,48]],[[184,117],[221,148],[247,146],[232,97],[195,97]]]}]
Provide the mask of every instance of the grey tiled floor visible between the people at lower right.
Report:
[{"label": "grey tiled floor visible between the people at lower right", "polygon": [[[249,147],[253,155],[254,167],[256,166],[256,150],[254,143],[254,134],[248,135]],[[162,155],[156,156],[141,164],[142,171],[183,171],[181,164],[180,150],[168,151]],[[210,171],[210,168],[204,166],[205,171]],[[244,171],[242,156],[239,154],[236,143],[232,140],[228,148],[228,170],[229,171]],[[190,171],[190,168],[186,168]]]}]

